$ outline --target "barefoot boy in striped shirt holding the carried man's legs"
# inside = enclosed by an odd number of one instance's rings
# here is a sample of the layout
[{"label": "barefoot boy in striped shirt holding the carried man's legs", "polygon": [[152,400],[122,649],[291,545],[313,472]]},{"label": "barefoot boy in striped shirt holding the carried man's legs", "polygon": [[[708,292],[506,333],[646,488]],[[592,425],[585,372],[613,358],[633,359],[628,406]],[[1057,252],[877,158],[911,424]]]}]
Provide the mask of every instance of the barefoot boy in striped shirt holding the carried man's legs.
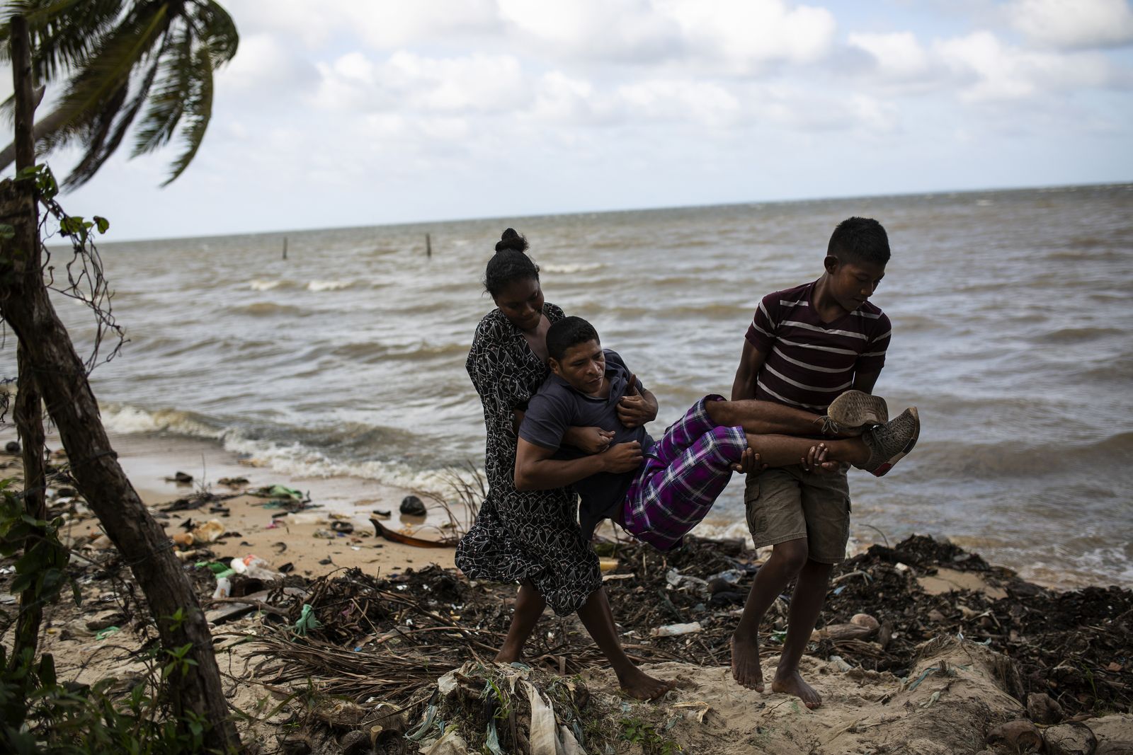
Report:
[{"label": "barefoot boy in striped shirt holding the carried man's legs", "polygon": [[[825,414],[845,391],[862,392],[855,396],[870,394],[885,366],[891,326],[869,298],[888,261],[889,242],[880,223],[864,217],[840,223],[820,278],[767,294],[759,302],[735,372],[732,401],[756,398]],[[885,403],[864,398],[876,401],[876,420],[884,422]],[[799,464],[749,474],[743,497],[756,547],[774,548],[756,575],[732,636],[732,676],[763,692],[759,624],[787,583],[798,577],[772,689],[796,695],[808,707],[817,707],[821,698],[799,675],[799,661],[826,600],[830,570],[845,558],[847,466]],[[880,477],[889,466],[874,474]]]}]

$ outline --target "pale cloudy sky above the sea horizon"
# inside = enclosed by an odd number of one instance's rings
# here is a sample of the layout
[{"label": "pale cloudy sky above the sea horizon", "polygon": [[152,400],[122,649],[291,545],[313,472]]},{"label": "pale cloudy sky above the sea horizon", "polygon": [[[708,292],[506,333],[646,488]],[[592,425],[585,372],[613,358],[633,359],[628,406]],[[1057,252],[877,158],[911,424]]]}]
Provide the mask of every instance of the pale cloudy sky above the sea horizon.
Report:
[{"label": "pale cloudy sky above the sea horizon", "polygon": [[221,5],[194,164],[65,201],[110,239],[1133,180],[1126,0]]}]

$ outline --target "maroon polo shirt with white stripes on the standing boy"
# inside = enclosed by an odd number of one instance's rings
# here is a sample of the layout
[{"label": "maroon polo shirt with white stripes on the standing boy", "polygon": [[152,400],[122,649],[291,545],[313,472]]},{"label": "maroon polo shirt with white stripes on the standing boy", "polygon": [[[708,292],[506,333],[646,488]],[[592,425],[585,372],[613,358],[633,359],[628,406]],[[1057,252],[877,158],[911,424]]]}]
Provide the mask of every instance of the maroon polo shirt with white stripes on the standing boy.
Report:
[{"label": "maroon polo shirt with white stripes on the standing boy", "polygon": [[823,323],[810,306],[815,283],[764,297],[747,337],[766,355],[756,376],[756,398],[821,413],[853,386],[855,372],[880,371],[892,326],[868,301]]}]

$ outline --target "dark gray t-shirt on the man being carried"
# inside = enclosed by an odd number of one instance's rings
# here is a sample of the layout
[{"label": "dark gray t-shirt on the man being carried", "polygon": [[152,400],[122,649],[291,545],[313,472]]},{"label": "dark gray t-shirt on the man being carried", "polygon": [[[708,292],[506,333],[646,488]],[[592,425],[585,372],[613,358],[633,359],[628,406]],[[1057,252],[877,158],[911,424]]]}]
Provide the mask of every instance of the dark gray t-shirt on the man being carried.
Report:
[{"label": "dark gray t-shirt on the man being carried", "polygon": [[[629,391],[630,371],[617,352],[604,349],[603,353],[606,355],[610,396],[606,398],[588,396],[552,374],[543,381],[538,393],[531,396],[527,405],[523,423],[519,427],[520,438],[542,448],[555,451],[554,458],[580,458],[587,454],[578,448],[562,445],[566,430],[571,427],[599,427],[603,430],[614,431],[611,445],[637,440],[641,444],[641,452],[649,453],[653,448],[653,438],[645,428],[628,428],[617,420],[617,402]],[[640,380],[637,381],[637,389],[645,392]],[[603,518],[621,518],[625,491],[636,475],[636,470],[620,474],[598,472],[574,483],[574,490],[582,498],[579,524],[583,538],[589,540],[594,534],[594,527]]]}]

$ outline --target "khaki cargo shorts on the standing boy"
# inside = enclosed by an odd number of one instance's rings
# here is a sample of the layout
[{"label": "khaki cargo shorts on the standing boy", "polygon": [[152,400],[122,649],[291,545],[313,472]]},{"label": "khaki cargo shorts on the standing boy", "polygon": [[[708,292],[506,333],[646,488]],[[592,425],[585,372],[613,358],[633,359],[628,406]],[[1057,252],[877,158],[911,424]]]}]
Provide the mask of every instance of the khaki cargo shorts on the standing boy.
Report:
[{"label": "khaki cargo shorts on the standing boy", "polygon": [[818,474],[795,464],[749,474],[743,504],[756,548],[806,538],[812,560],[845,560],[850,540],[847,469],[844,464],[838,472]]}]

